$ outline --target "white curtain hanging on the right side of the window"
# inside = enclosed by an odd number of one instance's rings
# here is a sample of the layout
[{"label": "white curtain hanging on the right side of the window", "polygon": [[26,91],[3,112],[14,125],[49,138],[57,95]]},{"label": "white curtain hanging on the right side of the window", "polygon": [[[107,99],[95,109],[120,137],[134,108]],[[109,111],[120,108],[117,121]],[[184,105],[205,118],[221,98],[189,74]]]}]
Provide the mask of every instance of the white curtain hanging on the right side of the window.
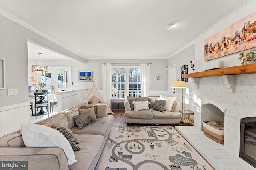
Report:
[{"label": "white curtain hanging on the right side of the window", "polygon": [[141,77],[141,96],[148,95],[149,78],[150,78],[150,64],[140,64],[140,77]]}]

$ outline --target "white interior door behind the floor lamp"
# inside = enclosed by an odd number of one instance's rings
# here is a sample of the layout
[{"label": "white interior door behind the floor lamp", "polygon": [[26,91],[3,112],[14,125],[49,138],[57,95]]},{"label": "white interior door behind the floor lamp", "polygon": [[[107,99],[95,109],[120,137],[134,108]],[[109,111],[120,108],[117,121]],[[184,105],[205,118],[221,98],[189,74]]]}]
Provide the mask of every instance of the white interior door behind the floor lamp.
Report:
[{"label": "white interior door behind the floor lamp", "polygon": [[175,89],[172,88],[172,82],[177,80],[176,79],[176,64],[168,67],[168,96],[169,97],[176,97]]}]

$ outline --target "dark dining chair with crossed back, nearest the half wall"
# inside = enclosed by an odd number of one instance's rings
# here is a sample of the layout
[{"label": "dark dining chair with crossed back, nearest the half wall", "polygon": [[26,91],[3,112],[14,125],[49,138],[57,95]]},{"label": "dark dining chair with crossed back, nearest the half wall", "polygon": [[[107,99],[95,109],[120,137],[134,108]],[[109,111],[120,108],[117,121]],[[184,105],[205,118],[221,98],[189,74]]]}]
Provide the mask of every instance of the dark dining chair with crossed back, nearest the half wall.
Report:
[{"label": "dark dining chair with crossed back, nearest the half wall", "polygon": [[[48,94],[49,92],[35,92],[35,116],[39,115],[43,115],[44,113],[44,109],[43,107],[46,107],[47,109],[47,114],[49,117],[49,103],[48,103]],[[37,108],[41,108],[40,111],[37,113]]]}]

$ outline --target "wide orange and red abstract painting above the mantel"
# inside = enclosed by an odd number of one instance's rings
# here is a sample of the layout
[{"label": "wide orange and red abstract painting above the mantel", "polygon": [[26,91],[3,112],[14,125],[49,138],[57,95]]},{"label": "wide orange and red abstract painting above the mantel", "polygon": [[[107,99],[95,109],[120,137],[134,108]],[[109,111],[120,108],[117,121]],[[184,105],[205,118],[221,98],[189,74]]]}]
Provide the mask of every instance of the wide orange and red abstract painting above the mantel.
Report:
[{"label": "wide orange and red abstract painting above the mantel", "polygon": [[256,47],[256,12],[204,41],[204,61]]}]

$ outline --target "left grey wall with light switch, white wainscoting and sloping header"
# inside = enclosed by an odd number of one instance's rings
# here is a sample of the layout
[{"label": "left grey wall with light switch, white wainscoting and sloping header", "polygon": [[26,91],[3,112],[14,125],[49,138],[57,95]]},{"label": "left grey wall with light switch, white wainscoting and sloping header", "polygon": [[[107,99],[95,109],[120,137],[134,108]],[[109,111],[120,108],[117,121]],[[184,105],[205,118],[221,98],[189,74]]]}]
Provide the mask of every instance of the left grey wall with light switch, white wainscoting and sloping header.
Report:
[{"label": "left grey wall with light switch, white wainscoting and sloping header", "polygon": [[[29,123],[28,39],[64,55],[86,60],[3,16],[0,16],[0,23],[0,58],[5,59],[5,89],[0,90],[0,135],[4,135],[20,129],[20,123]],[[18,89],[18,95],[8,96],[8,89]]]}]

